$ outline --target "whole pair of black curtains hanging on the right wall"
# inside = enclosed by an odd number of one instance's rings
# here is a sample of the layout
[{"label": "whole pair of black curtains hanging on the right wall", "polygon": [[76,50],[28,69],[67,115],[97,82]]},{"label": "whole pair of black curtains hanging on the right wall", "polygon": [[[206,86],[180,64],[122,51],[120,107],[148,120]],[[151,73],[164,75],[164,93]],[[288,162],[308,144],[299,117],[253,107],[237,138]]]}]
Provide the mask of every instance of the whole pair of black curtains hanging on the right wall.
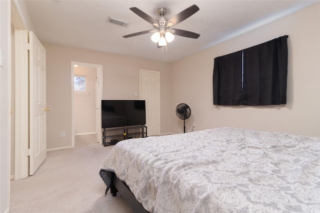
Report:
[{"label": "whole pair of black curtains hanging on the right wall", "polygon": [[[285,104],[287,38],[287,35],[281,36],[229,55],[214,58],[213,104],[250,106]],[[234,96],[234,94],[237,95]],[[229,101],[230,99],[232,101]]]}]

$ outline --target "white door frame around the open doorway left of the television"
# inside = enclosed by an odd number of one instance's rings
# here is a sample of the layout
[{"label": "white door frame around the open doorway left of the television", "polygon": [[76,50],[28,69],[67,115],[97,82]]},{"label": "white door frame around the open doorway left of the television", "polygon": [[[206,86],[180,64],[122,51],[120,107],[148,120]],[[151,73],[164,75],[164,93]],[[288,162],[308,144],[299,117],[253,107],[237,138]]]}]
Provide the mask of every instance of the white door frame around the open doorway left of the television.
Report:
[{"label": "white door frame around the open doorway left of the television", "polygon": [[71,147],[74,147],[74,65],[94,67],[97,70],[97,87],[96,87],[96,131],[97,131],[97,142],[102,143],[101,140],[101,100],[102,100],[102,65],[91,64],[84,62],[71,61]]}]

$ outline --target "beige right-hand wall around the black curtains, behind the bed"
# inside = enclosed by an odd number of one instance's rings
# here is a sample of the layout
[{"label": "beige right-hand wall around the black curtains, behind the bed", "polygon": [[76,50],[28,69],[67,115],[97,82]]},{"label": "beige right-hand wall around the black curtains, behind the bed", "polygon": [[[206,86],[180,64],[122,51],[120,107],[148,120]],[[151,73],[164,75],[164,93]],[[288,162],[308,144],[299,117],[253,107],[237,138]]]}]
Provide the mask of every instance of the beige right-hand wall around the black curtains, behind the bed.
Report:
[{"label": "beige right-hand wall around the black curtains, behind the bed", "polygon": [[[186,103],[187,131],[228,126],[320,136],[319,3],[171,64],[171,108]],[[288,35],[287,104],[216,106],[212,98],[213,59]],[[183,77],[181,77],[183,76]],[[183,121],[171,113],[171,131]]]}]

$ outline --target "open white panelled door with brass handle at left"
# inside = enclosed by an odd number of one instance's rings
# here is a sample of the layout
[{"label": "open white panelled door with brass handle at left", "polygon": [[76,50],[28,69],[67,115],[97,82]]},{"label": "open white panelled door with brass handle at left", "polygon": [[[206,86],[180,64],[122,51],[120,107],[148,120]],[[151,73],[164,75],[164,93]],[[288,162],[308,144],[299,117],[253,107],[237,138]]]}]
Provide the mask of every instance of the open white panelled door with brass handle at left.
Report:
[{"label": "open white panelled door with brass handle at left", "polygon": [[29,175],[46,158],[45,49],[29,32]]}]

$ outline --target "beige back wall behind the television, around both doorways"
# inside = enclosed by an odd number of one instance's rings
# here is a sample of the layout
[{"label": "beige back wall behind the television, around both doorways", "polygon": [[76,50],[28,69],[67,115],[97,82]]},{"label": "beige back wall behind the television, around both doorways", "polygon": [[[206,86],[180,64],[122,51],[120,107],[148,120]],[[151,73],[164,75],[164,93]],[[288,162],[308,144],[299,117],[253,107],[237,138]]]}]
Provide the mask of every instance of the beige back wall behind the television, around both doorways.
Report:
[{"label": "beige back wall behind the television, around both doorways", "polygon": [[103,99],[139,99],[139,70],[159,71],[160,131],[170,132],[169,64],[47,43],[43,46],[47,59],[47,106],[51,109],[47,113],[47,149],[71,146],[71,61],[102,65]]}]

